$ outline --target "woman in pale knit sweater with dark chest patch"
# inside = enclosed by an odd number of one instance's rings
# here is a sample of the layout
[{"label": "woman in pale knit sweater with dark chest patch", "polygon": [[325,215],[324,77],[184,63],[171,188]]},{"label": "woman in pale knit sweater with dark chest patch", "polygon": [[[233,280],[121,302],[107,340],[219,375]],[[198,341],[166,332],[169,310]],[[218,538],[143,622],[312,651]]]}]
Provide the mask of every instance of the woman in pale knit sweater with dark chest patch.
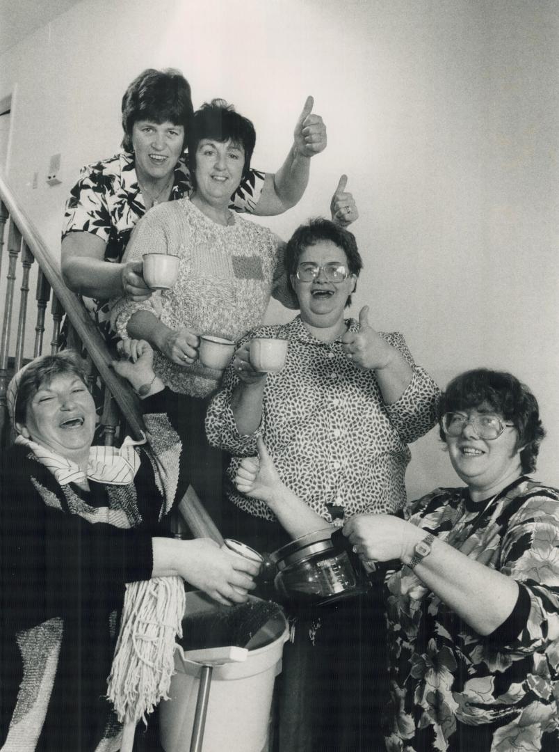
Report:
[{"label": "woman in pale knit sweater with dark chest patch", "polygon": [[[189,130],[194,193],[154,207],[134,229],[123,259],[177,255],[177,283],[142,302],[123,298],[112,314],[122,338],[153,345],[156,374],[182,395],[178,404],[181,420],[188,423],[183,435],[190,438],[189,476],[214,517],[221,498],[221,453],[207,444],[204,417],[222,372],[198,360],[199,335],[237,341],[261,323],[270,296],[296,307],[283,269],[283,242],[228,208],[249,172],[255,140],[252,123],[222,100],[195,113]],[[358,212],[344,188],[340,181],[331,209],[348,224]]]}]

